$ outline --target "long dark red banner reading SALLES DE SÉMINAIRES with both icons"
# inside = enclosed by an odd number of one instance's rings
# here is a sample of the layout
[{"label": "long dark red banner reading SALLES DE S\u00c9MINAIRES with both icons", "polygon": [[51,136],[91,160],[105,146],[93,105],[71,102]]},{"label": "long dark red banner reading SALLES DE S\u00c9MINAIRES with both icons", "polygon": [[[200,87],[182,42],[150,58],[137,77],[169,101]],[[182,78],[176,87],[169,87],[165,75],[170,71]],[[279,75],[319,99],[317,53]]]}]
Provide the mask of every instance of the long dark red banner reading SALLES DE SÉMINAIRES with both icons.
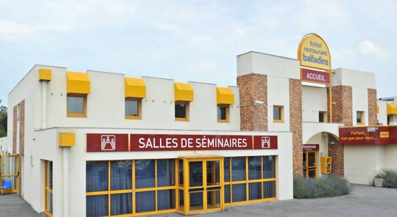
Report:
[{"label": "long dark red banner reading SALLES DE S\u00c9MINAIRES with both icons", "polygon": [[87,134],[87,152],[277,149],[277,136]]}]

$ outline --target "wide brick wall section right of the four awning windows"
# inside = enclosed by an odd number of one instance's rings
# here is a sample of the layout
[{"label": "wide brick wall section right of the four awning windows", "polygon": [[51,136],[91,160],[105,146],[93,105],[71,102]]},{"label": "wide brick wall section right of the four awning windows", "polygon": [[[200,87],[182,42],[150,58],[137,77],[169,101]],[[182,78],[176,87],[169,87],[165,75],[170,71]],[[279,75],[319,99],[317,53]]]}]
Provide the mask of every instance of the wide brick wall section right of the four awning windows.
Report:
[{"label": "wide brick wall section right of the four awning windows", "polygon": [[[246,74],[237,77],[240,89],[240,123],[241,130],[267,130],[267,76]],[[255,105],[255,101],[264,104]]]}]

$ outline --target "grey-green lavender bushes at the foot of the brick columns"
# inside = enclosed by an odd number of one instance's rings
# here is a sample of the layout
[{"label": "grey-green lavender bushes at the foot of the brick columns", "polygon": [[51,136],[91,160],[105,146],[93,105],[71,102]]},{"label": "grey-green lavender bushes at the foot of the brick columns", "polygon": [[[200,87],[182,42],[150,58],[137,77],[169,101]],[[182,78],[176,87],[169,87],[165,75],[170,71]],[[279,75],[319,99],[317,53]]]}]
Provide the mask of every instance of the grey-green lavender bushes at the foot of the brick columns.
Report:
[{"label": "grey-green lavender bushes at the foot of the brick columns", "polygon": [[341,176],[329,175],[318,179],[294,176],[294,198],[334,197],[350,191],[349,181]]}]

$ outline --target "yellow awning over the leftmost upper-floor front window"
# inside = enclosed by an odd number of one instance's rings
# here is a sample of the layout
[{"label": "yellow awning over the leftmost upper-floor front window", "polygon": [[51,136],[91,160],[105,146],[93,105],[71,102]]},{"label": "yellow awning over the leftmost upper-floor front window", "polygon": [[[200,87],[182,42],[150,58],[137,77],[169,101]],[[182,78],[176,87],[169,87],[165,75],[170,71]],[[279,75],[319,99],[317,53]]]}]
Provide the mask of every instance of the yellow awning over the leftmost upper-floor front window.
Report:
[{"label": "yellow awning over the leftmost upper-floor front window", "polygon": [[83,72],[66,72],[66,92],[69,94],[89,94],[90,78],[88,73]]}]

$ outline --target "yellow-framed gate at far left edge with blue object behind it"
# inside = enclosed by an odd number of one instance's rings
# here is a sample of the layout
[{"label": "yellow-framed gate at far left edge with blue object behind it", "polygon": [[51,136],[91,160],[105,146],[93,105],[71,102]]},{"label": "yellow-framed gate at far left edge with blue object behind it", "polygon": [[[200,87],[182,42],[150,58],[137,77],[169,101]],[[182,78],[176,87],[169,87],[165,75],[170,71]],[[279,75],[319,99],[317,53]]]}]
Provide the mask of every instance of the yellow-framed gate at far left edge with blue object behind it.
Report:
[{"label": "yellow-framed gate at far left edge with blue object behind it", "polygon": [[0,189],[0,193],[18,193],[19,190],[19,161],[18,155],[1,155],[0,179],[1,185],[9,188]]}]

